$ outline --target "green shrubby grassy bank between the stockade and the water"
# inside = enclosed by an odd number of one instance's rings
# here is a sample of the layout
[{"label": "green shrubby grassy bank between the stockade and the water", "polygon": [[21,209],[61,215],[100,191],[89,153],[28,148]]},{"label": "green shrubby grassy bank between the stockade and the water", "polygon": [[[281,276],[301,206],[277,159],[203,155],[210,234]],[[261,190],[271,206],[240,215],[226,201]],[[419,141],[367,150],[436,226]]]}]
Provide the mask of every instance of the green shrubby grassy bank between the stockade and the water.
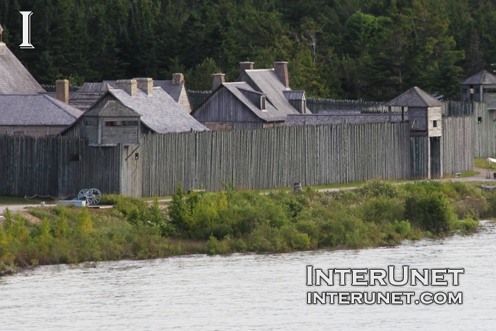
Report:
[{"label": "green shrubby grassy bank between the stockade and the water", "polygon": [[435,181],[371,181],[353,191],[259,194],[182,189],[166,206],[104,196],[112,209],[32,208],[0,226],[0,269],[54,263],[154,259],[178,254],[291,252],[396,245],[475,231],[496,216],[496,193]]}]

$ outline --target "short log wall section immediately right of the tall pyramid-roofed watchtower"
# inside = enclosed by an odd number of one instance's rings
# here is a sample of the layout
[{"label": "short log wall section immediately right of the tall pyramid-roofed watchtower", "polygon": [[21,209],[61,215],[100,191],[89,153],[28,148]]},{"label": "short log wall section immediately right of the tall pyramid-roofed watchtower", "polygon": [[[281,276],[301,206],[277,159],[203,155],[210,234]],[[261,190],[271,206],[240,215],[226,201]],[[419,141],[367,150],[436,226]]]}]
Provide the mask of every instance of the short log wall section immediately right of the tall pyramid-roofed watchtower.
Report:
[{"label": "short log wall section immediately right of the tall pyramid-roofed watchtower", "polygon": [[443,173],[473,170],[473,116],[444,117],[442,137]]}]

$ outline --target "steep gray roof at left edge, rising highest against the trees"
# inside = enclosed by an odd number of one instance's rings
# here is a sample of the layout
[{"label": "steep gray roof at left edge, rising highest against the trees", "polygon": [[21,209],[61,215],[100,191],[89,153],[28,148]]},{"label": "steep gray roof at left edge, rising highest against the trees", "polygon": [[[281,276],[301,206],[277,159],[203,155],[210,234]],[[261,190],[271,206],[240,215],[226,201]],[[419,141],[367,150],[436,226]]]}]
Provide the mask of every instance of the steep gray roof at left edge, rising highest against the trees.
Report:
[{"label": "steep gray roof at left edge, rising highest against the trees", "polygon": [[38,94],[45,92],[22,63],[0,43],[0,94]]}]

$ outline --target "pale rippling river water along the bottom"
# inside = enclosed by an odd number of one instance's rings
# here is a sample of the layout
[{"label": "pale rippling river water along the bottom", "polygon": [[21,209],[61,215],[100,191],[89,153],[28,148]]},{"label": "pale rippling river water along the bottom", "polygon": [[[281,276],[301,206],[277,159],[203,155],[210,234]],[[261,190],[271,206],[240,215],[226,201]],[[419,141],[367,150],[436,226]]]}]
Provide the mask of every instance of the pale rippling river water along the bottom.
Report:
[{"label": "pale rippling river water along the bottom", "polygon": [[[0,279],[0,330],[496,330],[495,252],[485,222],[473,236],[394,248],[46,266]],[[448,287],[307,286],[307,265],[464,274]],[[463,303],[307,304],[312,291],[453,291]]]}]

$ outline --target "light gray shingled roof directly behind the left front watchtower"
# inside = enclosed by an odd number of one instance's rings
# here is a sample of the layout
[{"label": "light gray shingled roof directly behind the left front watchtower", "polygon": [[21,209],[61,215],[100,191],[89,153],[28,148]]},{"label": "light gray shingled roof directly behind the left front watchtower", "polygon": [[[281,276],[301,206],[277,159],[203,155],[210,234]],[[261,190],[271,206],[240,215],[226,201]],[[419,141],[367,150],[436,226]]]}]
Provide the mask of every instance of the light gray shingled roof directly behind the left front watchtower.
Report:
[{"label": "light gray shingled roof directly behind the left front watchtower", "polygon": [[135,97],[120,89],[110,89],[108,92],[124,106],[141,114],[141,123],[155,132],[209,130],[179,106],[162,88],[154,88],[152,95],[137,89]]}]

